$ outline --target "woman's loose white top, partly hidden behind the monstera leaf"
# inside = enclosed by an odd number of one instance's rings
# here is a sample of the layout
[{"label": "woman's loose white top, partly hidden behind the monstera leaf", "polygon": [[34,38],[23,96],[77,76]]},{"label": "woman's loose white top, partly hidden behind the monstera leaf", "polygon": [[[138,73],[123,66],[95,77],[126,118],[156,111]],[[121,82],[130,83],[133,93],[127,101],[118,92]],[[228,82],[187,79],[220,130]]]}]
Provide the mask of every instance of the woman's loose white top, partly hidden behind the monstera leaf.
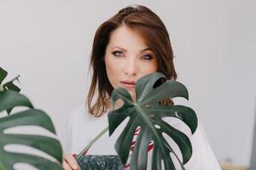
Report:
[{"label": "woman's loose white top, partly hidden behind the monstera leaf", "polygon": [[[198,122],[198,127],[193,135],[183,122],[175,118],[164,118],[164,120],[173,127],[185,133],[192,144],[193,154],[190,160],[184,165],[186,170],[221,170],[216,157],[214,156],[211,146],[207,141],[206,134],[204,133],[201,122]],[[114,131],[111,137],[108,132],[96,141],[91,146],[88,154],[90,155],[117,155],[114,150],[114,143],[119,137],[121,130],[125,127],[128,119],[125,119],[119,127]],[[73,111],[67,122],[67,129],[65,135],[64,152],[68,154],[78,154],[80,150],[90,143],[98,133],[108,126],[108,111],[100,117],[90,116],[84,107],[80,107]],[[178,149],[177,144],[167,136],[167,141],[170,142],[172,149],[177,153],[177,156],[182,161],[181,151]],[[148,169],[150,168],[152,151],[148,152]],[[181,169],[179,163],[174,161],[176,169]]]}]

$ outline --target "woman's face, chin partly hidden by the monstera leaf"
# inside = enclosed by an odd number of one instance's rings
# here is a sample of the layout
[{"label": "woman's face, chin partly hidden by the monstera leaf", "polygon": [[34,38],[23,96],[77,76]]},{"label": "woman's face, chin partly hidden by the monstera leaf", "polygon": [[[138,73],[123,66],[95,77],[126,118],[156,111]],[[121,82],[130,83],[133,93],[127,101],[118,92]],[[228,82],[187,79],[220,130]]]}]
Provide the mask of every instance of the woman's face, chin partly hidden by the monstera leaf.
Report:
[{"label": "woman's face, chin partly hidden by the monstera leaf", "polygon": [[106,48],[105,65],[113,88],[126,88],[134,101],[137,80],[157,71],[153,51],[137,31],[126,26],[120,26],[112,32]]}]

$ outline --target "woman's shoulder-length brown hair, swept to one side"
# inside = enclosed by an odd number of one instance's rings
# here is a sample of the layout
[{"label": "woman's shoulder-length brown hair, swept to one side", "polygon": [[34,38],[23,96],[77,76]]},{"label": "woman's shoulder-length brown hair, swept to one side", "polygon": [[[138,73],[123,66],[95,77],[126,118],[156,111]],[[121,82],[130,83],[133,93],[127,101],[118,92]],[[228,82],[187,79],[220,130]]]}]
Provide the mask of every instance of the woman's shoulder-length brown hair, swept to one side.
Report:
[{"label": "woman's shoulder-length brown hair, swept to one side", "polygon": [[[107,111],[107,99],[113,91],[108,80],[104,56],[111,33],[119,26],[127,26],[138,31],[157,56],[157,71],[163,73],[167,79],[176,80],[177,78],[169,34],[162,20],[143,5],[123,8],[112,18],[103,22],[96,30],[94,37],[90,58],[93,74],[86,99],[89,112],[93,116],[102,116],[102,113]],[[93,104],[96,91],[97,99]]]}]

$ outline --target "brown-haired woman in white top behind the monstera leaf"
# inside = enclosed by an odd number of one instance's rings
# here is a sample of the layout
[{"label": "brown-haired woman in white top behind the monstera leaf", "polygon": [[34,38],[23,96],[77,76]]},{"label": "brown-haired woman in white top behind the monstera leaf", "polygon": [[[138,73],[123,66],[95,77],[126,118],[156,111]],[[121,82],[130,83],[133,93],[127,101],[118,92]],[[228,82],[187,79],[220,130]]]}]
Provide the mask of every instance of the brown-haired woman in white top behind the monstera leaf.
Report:
[{"label": "brown-haired woman in white top behind the monstera leaf", "polygon": [[[64,156],[65,169],[79,169],[72,154],[77,154],[108,125],[107,115],[111,110],[110,96],[113,88],[126,88],[133,101],[136,101],[135,84],[139,78],[154,71],[162,72],[167,79],[177,78],[166,27],[154,12],[142,5],[123,8],[99,26],[93,42],[90,65],[93,75],[86,100],[88,109],[80,108],[69,119],[67,126],[69,154]],[[163,103],[172,105],[172,100],[166,99]],[[118,105],[122,105],[121,101]],[[177,123],[176,127],[181,127],[180,123]],[[188,133],[185,132],[187,130],[185,127],[181,128],[184,133]],[[121,129],[122,127],[119,127],[119,130]],[[87,154],[116,154],[113,144],[119,131],[115,134],[110,139],[108,134],[102,136]],[[189,139],[194,152],[185,165],[187,170],[220,169],[203,135],[201,123]],[[129,169],[129,162],[125,169]]]}]

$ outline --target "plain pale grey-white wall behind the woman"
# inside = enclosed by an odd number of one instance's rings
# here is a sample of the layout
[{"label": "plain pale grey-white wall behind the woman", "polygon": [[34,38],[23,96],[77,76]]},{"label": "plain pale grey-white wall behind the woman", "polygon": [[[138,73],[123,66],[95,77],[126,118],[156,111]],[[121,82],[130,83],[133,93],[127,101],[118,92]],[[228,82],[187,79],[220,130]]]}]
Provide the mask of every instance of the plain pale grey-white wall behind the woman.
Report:
[{"label": "plain pale grey-white wall behind the woman", "polygon": [[219,161],[248,165],[256,99],[256,2],[0,0],[0,66],[20,74],[22,94],[52,117],[60,139],[84,103],[96,28],[129,4],[166,24],[178,81]]}]

